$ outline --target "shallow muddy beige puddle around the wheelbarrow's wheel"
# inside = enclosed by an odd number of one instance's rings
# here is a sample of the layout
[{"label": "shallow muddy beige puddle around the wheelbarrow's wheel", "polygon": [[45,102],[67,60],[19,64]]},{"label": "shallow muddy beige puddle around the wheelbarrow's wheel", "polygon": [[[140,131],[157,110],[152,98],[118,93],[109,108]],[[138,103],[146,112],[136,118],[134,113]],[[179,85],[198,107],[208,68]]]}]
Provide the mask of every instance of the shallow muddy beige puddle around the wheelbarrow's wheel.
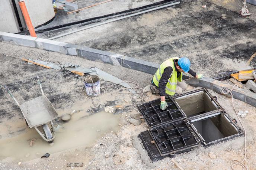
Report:
[{"label": "shallow muddy beige puddle around the wheelbarrow's wheel", "polygon": [[[118,122],[119,115],[105,111],[90,116],[86,111],[74,113],[69,122],[60,123],[52,146],[34,128],[15,137],[0,139],[0,160],[24,162],[39,158],[45,153],[53,154],[78,146],[90,146],[105,133],[115,133]],[[33,138],[35,143],[30,147]]]}]

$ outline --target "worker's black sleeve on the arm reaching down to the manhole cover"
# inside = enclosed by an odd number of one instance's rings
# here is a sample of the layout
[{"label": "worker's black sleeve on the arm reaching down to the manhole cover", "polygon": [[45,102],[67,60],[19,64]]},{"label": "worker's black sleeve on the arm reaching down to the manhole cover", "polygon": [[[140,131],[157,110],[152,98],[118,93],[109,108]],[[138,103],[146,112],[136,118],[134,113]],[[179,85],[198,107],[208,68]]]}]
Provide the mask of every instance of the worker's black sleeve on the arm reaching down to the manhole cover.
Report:
[{"label": "worker's black sleeve on the arm reaching down to the manhole cover", "polygon": [[165,86],[166,86],[168,79],[170,78],[171,75],[172,75],[172,67],[166,67],[164,69],[163,75],[160,78],[159,84],[158,84],[160,96],[166,95]]}]

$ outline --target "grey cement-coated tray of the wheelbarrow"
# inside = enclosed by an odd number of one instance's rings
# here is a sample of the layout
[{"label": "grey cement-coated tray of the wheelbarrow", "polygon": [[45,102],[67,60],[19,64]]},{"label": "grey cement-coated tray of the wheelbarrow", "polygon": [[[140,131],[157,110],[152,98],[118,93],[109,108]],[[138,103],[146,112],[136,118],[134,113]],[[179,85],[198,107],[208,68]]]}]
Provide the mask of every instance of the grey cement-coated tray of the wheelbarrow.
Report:
[{"label": "grey cement-coated tray of the wheelbarrow", "polygon": [[44,95],[20,104],[20,109],[30,128],[47,124],[58,117],[55,108]]}]

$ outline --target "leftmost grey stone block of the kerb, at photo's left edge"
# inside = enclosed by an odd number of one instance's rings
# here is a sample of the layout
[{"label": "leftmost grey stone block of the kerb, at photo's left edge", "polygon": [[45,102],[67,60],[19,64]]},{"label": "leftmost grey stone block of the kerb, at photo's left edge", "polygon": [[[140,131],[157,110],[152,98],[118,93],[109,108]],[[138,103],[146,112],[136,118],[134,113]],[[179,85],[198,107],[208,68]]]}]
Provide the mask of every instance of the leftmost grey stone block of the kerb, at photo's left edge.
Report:
[{"label": "leftmost grey stone block of the kerb, at photo's left edge", "polygon": [[13,33],[0,32],[1,42],[10,43],[13,45],[22,45],[26,47],[36,47],[36,37],[18,35]]}]

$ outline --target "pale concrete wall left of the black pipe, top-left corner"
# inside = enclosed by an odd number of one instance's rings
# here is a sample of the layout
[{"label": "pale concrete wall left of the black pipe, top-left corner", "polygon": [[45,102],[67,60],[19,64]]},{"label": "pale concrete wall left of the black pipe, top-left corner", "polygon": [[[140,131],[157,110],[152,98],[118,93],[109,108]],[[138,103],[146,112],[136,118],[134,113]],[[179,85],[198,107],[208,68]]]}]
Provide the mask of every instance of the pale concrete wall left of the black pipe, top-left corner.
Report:
[{"label": "pale concrete wall left of the black pipe, top-left corner", "polygon": [[17,33],[20,31],[18,26],[11,1],[0,0],[0,31]]}]

